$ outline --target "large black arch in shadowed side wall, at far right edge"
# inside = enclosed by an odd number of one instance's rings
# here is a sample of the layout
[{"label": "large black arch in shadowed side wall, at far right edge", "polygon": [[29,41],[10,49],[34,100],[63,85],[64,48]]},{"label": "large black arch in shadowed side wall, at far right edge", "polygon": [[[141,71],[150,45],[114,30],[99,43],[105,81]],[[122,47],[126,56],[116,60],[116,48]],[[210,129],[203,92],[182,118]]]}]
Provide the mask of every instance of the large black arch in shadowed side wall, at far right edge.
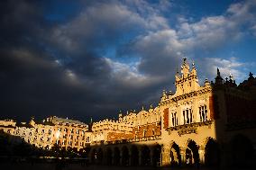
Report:
[{"label": "large black arch in shadowed side wall, at far right edge", "polygon": [[231,141],[231,164],[236,167],[250,167],[254,164],[254,149],[251,140],[237,135]]}]

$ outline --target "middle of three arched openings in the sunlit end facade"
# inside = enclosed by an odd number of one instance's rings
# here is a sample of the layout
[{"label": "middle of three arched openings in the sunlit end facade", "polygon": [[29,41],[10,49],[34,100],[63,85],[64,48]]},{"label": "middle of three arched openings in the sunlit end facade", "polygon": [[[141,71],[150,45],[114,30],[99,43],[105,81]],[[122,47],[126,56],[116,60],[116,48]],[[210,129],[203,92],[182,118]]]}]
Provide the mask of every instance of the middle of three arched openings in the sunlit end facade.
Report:
[{"label": "middle of three arched openings in the sunlit end facade", "polygon": [[199,165],[198,147],[195,141],[190,140],[186,149],[186,164],[187,166]]}]

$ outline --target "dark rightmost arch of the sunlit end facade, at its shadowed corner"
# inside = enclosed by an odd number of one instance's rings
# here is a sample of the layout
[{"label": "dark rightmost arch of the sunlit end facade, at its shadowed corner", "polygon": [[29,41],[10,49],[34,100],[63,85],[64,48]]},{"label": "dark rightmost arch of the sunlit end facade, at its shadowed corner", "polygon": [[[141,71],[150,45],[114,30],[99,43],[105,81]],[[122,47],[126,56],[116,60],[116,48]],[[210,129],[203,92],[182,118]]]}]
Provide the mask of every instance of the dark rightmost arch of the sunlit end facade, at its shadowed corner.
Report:
[{"label": "dark rightmost arch of the sunlit end facade, at its shadowed corner", "polygon": [[206,143],[205,162],[210,167],[220,165],[220,148],[214,139],[208,139]]}]

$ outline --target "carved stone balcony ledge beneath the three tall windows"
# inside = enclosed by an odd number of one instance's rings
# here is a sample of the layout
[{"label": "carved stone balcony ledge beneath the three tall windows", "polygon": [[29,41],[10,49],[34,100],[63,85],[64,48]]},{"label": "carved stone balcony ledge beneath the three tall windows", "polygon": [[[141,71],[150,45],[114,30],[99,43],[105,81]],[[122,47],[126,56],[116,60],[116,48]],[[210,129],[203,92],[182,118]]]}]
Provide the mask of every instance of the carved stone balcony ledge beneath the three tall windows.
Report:
[{"label": "carved stone balcony ledge beneath the three tall windows", "polygon": [[179,126],[175,126],[175,127],[169,127],[166,130],[169,131],[169,134],[173,130],[178,130],[178,135],[179,136],[190,134],[190,133],[196,133],[197,134],[197,127],[211,126],[212,123],[213,123],[213,121],[194,122],[194,123],[191,123],[191,124],[184,124],[184,125],[179,125]]}]

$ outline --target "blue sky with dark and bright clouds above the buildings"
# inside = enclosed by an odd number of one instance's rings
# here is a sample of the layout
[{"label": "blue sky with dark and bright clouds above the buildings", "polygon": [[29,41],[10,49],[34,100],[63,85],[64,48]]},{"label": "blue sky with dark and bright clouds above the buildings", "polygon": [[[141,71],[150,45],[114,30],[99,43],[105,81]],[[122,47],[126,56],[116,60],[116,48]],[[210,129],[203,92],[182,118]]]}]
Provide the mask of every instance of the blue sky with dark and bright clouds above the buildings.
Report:
[{"label": "blue sky with dark and bright clouds above the buildings", "polygon": [[89,122],[157,106],[187,58],[201,85],[256,73],[256,0],[4,0],[0,119]]}]

